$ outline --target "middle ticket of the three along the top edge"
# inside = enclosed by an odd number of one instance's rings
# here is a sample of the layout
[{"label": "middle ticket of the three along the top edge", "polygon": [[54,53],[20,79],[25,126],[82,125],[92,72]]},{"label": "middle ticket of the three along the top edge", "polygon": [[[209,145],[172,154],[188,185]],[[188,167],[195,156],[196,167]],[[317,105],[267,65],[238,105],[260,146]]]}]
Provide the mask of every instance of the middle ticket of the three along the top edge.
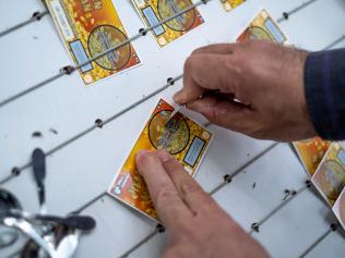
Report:
[{"label": "middle ticket of the three along the top edge", "polygon": [[[132,2],[147,26],[154,26],[192,5],[190,0],[132,0]],[[155,27],[152,33],[158,45],[164,47],[203,22],[194,8]]]}]

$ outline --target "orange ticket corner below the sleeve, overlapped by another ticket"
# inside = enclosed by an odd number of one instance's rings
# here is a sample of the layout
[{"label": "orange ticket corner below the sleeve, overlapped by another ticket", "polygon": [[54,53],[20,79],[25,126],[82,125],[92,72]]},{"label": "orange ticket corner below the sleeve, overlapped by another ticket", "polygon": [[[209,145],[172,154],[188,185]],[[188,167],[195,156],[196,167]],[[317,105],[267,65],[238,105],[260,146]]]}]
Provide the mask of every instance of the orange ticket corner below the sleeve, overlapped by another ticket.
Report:
[{"label": "orange ticket corner below the sleeve, overlapped by another ticket", "polygon": [[294,143],[298,157],[310,175],[316,172],[330,145],[330,142],[319,137]]}]

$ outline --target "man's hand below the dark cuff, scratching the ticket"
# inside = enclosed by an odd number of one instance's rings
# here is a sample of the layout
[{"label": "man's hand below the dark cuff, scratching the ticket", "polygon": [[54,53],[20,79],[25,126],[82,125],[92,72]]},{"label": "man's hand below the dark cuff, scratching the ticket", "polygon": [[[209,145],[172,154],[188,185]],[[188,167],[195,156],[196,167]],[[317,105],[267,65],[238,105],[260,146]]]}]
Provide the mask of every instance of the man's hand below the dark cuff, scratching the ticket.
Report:
[{"label": "man's hand below the dark cuff, scratching the ticket", "polygon": [[[306,58],[305,51],[267,41],[207,46],[187,59],[175,101],[255,138],[313,137],[304,88]],[[226,95],[201,97],[209,90],[233,94],[240,102]]]}]

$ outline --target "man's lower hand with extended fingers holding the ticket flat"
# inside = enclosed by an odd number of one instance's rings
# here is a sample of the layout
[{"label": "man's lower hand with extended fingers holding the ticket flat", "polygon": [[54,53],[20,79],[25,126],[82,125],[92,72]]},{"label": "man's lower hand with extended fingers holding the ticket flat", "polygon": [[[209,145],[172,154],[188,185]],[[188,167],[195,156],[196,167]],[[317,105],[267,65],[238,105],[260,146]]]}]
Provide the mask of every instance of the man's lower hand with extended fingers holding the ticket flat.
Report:
[{"label": "man's lower hand with extended fingers holding the ticket flat", "polygon": [[136,168],[170,233],[165,258],[267,257],[172,156],[143,150]]}]

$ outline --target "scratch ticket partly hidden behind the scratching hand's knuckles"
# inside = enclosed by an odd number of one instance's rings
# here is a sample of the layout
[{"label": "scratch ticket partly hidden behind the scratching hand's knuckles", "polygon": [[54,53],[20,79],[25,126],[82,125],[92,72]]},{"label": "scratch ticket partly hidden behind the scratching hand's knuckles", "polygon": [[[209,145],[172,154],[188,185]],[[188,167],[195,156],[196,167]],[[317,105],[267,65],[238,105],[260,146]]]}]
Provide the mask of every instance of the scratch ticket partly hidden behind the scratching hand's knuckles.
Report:
[{"label": "scratch ticket partly hidden behind the scratching hand's knuckles", "polygon": [[262,10],[237,38],[238,42],[248,40],[270,40],[278,44],[287,44],[287,37],[283,34],[277,23],[266,10]]}]

